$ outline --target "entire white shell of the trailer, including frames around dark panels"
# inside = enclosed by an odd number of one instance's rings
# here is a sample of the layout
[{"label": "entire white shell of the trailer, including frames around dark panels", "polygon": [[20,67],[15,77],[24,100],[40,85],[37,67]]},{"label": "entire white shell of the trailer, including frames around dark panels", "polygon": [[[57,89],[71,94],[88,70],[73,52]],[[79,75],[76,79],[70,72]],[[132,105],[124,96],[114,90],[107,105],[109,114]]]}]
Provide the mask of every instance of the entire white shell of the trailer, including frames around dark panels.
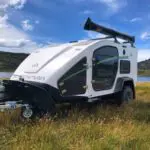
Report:
[{"label": "entire white shell of the trailer, including frames around dark panels", "polygon": [[[92,58],[93,52],[103,46],[112,46],[118,49],[119,60],[126,59],[131,62],[129,74],[120,74],[120,63],[118,61],[118,71],[112,89],[105,91],[94,91],[92,87]],[[123,54],[123,50],[126,54]],[[87,81],[88,89],[80,96],[96,97],[114,92],[117,78],[129,77],[134,83],[137,80],[137,50],[130,45],[118,44],[111,40],[90,40],[78,43],[63,44],[54,47],[47,47],[32,53],[15,71],[11,80],[19,80],[23,77],[26,81],[46,83],[58,89],[58,80],[79,60],[87,58]],[[73,85],[72,85],[73,86]]]}]

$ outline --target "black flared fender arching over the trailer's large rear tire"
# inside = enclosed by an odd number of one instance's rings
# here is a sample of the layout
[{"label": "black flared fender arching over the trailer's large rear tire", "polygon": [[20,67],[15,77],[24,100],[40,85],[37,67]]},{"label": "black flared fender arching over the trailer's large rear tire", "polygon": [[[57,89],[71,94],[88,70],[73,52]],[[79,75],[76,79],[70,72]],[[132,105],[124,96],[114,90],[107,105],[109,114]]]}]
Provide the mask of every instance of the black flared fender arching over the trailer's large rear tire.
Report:
[{"label": "black flared fender arching over the trailer's large rear tire", "polygon": [[133,81],[132,78],[129,78],[129,77],[121,77],[121,78],[117,79],[116,86],[115,86],[115,89],[114,89],[114,93],[121,92],[125,85],[130,85],[132,87],[133,92],[134,92],[134,98],[135,98],[134,81]]}]

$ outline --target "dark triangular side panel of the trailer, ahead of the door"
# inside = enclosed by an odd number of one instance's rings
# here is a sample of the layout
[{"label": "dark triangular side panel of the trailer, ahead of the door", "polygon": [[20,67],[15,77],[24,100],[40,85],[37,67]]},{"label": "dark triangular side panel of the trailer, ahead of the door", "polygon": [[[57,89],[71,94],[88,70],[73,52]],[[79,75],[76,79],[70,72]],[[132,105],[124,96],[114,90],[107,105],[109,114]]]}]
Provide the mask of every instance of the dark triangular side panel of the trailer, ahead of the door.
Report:
[{"label": "dark triangular side panel of the trailer, ahead of the door", "polygon": [[87,58],[83,57],[58,80],[58,87],[62,96],[86,93],[84,87],[86,86],[87,68],[85,64],[87,64]]}]

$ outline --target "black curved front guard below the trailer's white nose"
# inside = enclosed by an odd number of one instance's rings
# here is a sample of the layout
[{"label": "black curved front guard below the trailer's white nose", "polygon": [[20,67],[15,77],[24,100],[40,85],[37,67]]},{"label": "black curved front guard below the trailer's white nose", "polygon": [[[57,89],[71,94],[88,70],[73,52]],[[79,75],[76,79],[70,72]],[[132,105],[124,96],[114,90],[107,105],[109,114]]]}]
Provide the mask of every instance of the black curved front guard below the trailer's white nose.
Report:
[{"label": "black curved front guard below the trailer's white nose", "polygon": [[5,90],[1,92],[0,102],[22,101],[40,109],[49,110],[54,100],[43,86],[32,82],[4,80]]}]

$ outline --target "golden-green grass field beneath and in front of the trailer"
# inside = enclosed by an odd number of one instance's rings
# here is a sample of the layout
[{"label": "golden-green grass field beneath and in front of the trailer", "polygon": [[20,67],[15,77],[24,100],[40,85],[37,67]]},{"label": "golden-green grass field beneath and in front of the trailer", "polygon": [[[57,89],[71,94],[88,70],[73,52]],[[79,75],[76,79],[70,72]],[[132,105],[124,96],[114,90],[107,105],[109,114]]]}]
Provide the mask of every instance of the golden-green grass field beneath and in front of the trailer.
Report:
[{"label": "golden-green grass field beneath and in front of the trailer", "polygon": [[2,113],[0,149],[148,150],[150,83],[138,83],[136,91],[137,100],[130,105],[70,108],[53,119],[24,122],[17,112]]}]

